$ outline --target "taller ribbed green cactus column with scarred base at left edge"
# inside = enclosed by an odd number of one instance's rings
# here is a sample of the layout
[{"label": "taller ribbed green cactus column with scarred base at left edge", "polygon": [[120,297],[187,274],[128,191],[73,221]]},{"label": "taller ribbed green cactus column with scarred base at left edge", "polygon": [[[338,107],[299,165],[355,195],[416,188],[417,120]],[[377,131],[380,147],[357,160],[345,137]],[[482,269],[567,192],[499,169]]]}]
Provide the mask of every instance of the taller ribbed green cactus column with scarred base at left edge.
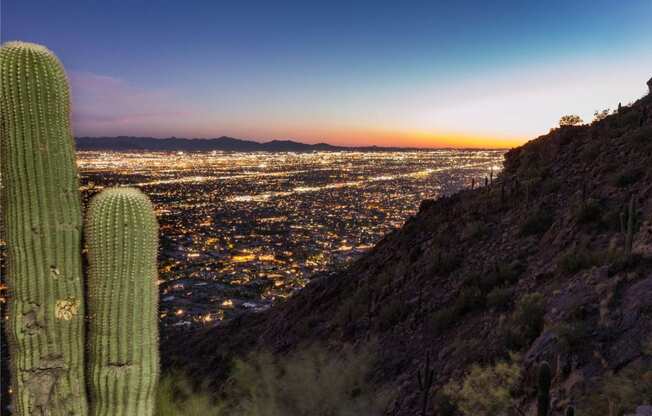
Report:
[{"label": "taller ribbed green cactus column with scarred base at left edge", "polygon": [[68,82],[46,48],[0,48],[2,214],[16,415],[85,415],[81,202]]}]

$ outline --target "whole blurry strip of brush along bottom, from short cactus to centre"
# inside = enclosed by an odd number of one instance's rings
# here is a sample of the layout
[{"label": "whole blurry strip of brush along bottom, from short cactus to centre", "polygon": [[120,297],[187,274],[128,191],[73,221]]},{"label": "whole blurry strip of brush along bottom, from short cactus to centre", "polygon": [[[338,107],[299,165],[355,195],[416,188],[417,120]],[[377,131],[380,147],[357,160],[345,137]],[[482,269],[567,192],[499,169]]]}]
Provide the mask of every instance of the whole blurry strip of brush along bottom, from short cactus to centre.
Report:
[{"label": "whole blurry strip of brush along bottom, from short cactus to centre", "polygon": [[193,384],[181,373],[164,375],[158,416],[355,416],[382,415],[390,390],[371,383],[372,349],[323,345],[286,356],[267,351],[233,362],[221,392]]}]

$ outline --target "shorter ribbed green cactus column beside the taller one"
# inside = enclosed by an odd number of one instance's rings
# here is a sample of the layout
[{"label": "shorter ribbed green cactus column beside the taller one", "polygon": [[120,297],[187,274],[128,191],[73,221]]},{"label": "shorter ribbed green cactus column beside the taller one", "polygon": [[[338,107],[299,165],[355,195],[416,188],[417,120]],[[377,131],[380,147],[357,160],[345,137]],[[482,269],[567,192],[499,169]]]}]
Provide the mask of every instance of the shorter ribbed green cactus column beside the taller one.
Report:
[{"label": "shorter ribbed green cactus column beside the taller one", "polygon": [[91,413],[152,415],[159,368],[152,204],[136,189],[103,191],[86,227]]}]

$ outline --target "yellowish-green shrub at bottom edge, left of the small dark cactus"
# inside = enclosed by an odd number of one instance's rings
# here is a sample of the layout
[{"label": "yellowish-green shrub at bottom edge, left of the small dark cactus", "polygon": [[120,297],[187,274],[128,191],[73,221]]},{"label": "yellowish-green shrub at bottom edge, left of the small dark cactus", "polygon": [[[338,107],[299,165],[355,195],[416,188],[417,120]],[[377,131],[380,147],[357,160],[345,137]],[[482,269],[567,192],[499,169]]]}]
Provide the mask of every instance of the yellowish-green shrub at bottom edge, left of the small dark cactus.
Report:
[{"label": "yellowish-green shrub at bottom edge, left of the small dark cactus", "polygon": [[474,364],[462,380],[449,382],[444,393],[463,415],[504,415],[517,408],[515,391],[520,379],[516,358],[488,367]]}]

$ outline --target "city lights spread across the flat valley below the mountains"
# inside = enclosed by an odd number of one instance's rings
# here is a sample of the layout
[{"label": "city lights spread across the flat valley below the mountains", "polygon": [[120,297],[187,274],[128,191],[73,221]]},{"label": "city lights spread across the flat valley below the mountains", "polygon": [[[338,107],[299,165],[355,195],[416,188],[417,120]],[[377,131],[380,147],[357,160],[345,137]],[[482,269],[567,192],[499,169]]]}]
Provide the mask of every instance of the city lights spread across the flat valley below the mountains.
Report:
[{"label": "city lights spread across the flat valley below the mountains", "polygon": [[160,223],[164,326],[264,310],[370,249],[423,199],[483,183],[503,151],[79,152],[84,201],[137,186]]}]

